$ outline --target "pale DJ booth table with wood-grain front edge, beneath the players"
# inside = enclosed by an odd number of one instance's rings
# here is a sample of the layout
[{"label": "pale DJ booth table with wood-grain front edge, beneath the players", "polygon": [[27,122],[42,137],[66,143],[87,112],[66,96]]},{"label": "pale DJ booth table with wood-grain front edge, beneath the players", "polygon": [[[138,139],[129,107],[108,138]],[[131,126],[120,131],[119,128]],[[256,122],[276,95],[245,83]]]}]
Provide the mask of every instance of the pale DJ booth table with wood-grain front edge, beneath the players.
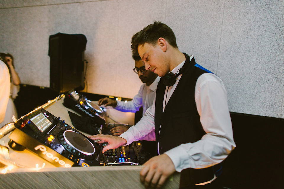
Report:
[{"label": "pale DJ booth table with wood-grain front edge, beneath the players", "polygon": [[[44,109],[72,126],[68,111],[76,112],[64,107],[62,102],[63,99],[56,100]],[[106,115],[107,123],[134,124],[134,113],[106,107]],[[1,145],[8,147],[9,135],[0,139]],[[0,188],[145,188],[139,179],[141,169],[142,166],[135,165],[55,167],[27,149],[14,151],[9,148],[8,157],[0,156]],[[179,179],[180,175],[174,174],[163,188],[178,188]]]}]

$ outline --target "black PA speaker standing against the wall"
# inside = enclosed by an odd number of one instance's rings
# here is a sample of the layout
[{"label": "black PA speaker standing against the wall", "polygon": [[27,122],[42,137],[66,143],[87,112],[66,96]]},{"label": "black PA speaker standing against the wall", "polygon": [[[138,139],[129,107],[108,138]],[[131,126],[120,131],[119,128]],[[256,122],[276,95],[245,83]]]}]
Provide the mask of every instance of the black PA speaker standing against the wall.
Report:
[{"label": "black PA speaker standing against the wall", "polygon": [[84,51],[87,38],[83,34],[57,33],[49,36],[50,88],[56,92],[84,89]]}]

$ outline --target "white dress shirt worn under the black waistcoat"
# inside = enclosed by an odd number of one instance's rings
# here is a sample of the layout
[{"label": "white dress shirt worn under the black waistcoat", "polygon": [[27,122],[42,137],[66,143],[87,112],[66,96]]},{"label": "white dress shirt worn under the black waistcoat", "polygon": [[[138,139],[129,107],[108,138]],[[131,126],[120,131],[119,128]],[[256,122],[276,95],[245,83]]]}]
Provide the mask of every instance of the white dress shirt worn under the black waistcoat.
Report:
[{"label": "white dress shirt worn under the black waistcoat", "polygon": [[[190,58],[193,58],[191,56]],[[183,66],[180,63],[172,73],[177,73]],[[163,107],[174,92],[182,74],[171,87],[166,87]],[[186,99],[186,98],[185,98]],[[206,134],[194,143],[181,144],[166,151],[175,169],[181,172],[186,168],[205,168],[222,162],[235,148],[230,113],[227,104],[227,91],[222,80],[215,74],[205,73],[199,76],[195,86],[195,102],[200,115],[200,122]],[[147,133],[155,130],[155,99],[143,118],[120,137],[131,144]],[[174,129],[174,128],[173,128]],[[171,139],[169,139],[171,140]]]}]

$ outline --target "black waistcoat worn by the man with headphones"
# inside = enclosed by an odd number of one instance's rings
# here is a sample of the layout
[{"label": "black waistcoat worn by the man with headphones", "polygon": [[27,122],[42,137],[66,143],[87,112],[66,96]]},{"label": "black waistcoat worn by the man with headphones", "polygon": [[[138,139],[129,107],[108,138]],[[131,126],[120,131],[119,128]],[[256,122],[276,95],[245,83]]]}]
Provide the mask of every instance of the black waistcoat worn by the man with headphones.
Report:
[{"label": "black waistcoat worn by the man with headphones", "polygon": [[[185,64],[188,64],[187,68],[170,97],[164,112],[163,101],[166,86],[162,81],[157,86],[155,132],[157,146],[159,142],[159,154],[163,154],[180,144],[196,142],[206,134],[200,123],[194,93],[198,77],[208,72],[194,66],[196,64],[194,58],[190,61],[189,56],[185,53],[184,55],[186,58]],[[180,187],[203,183],[213,177],[212,167],[204,169],[188,168],[181,172]]]}]

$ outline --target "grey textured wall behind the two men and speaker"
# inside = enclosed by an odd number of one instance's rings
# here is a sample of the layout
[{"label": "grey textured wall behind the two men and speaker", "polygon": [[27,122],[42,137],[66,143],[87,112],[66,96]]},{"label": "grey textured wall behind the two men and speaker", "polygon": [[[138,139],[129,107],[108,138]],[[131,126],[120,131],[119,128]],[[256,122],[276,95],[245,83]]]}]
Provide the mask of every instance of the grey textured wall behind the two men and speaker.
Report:
[{"label": "grey textured wall behind the two men and speaker", "polygon": [[223,79],[230,111],[284,118],[284,1],[25,0],[0,2],[0,51],[22,83],[49,87],[49,35],[82,33],[88,92],[132,98],[130,39],[155,20],[182,52]]}]

